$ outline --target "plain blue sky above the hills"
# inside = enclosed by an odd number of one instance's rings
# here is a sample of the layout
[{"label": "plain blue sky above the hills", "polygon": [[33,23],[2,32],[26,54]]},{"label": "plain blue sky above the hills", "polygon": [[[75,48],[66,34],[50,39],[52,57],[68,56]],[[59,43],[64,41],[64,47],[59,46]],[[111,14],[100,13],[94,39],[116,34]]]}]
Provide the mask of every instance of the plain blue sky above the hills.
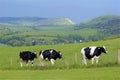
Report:
[{"label": "plain blue sky above the hills", "polygon": [[0,17],[69,18],[80,23],[120,15],[120,0],[0,0]]}]

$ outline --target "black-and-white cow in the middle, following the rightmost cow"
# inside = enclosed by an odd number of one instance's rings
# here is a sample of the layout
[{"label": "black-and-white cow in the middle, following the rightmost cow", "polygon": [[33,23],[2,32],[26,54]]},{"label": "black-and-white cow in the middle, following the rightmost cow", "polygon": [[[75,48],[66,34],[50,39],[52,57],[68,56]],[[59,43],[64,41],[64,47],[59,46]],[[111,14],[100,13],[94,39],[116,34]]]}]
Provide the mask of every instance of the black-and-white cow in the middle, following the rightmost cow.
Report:
[{"label": "black-and-white cow in the middle, following the rightmost cow", "polygon": [[54,65],[57,58],[61,59],[62,55],[60,51],[54,49],[41,50],[39,53],[40,56],[40,66],[44,66],[43,60],[49,60],[52,65]]}]

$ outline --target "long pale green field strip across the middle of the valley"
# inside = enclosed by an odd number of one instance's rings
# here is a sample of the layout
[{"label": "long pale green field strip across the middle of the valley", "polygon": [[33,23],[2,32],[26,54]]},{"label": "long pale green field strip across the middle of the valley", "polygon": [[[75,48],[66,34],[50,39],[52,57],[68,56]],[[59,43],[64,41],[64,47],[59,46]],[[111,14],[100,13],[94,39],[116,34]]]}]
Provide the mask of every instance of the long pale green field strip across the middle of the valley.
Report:
[{"label": "long pale green field strip across the middle of the valley", "polygon": [[97,34],[97,30],[96,29],[82,29],[82,30],[49,30],[49,31],[38,31],[38,32],[26,32],[26,33],[21,33],[21,35],[48,35],[48,36],[56,36],[56,35],[61,35],[61,36],[67,36],[67,35],[84,35],[84,36],[88,36],[88,35],[94,35]]}]

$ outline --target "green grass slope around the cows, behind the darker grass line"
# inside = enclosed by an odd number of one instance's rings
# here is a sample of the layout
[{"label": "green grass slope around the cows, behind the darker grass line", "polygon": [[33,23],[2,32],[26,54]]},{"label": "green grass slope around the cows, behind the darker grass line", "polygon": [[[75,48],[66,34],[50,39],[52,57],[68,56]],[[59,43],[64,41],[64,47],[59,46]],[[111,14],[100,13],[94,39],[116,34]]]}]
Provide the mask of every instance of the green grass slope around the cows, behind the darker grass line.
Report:
[{"label": "green grass slope around the cows, behind the darker grass line", "polygon": [[[40,50],[43,49],[56,49],[60,50],[63,54],[62,60],[57,60],[56,65],[52,67],[49,62],[46,62],[46,68],[74,68],[74,67],[82,67],[81,65],[81,55],[80,49],[86,46],[102,46],[105,45],[108,50],[108,54],[103,54],[100,57],[99,66],[107,66],[113,65],[117,61],[117,51],[120,48],[120,44],[118,44],[120,38],[113,40],[104,40],[98,42],[89,42],[89,43],[80,43],[80,44],[66,44],[66,45],[43,45],[43,46],[31,46],[31,47],[0,47],[2,56],[0,58],[0,69],[20,69],[19,67],[19,52],[24,50],[37,51],[39,53]],[[77,55],[75,59],[75,55]],[[4,60],[4,61],[3,61]],[[90,61],[88,61],[90,63]],[[39,61],[35,59],[35,66],[33,69],[38,68]],[[60,65],[61,64],[61,65]],[[77,64],[75,66],[74,64]]]}]

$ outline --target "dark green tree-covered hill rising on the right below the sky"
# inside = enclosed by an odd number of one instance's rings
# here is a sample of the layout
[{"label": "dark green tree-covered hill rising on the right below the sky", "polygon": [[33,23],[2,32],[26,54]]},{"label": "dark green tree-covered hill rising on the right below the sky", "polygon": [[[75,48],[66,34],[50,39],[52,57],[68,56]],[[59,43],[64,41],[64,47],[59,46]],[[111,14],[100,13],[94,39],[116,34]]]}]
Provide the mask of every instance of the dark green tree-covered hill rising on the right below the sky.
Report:
[{"label": "dark green tree-covered hill rising on the right below the sky", "polygon": [[96,28],[100,33],[116,35],[120,34],[120,16],[104,15],[78,24],[75,29]]}]

